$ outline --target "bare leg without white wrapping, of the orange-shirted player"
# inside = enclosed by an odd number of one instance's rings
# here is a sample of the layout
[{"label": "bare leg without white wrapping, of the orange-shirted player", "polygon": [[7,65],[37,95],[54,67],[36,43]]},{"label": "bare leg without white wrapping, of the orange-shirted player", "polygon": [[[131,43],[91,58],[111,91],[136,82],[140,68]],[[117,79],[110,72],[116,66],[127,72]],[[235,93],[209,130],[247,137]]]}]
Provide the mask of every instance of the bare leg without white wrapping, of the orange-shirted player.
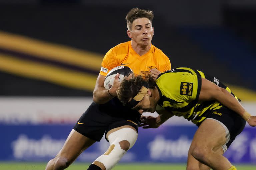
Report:
[{"label": "bare leg without white wrapping, of the orange-shirted player", "polygon": [[47,163],[46,170],[62,170],[67,168],[93,143],[95,143],[95,140],[92,140],[72,129],[62,149],[54,159]]}]

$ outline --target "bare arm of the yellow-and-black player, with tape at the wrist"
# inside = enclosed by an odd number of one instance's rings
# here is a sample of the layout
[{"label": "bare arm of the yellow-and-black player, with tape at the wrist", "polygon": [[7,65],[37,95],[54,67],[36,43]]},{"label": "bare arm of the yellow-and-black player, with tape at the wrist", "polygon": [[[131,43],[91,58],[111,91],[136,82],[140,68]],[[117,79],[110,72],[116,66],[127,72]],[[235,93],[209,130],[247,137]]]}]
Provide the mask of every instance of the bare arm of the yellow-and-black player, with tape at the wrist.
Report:
[{"label": "bare arm of the yellow-and-black player, with tape at the wrist", "polygon": [[223,89],[207,79],[202,78],[202,87],[199,94],[199,100],[218,100],[227,108],[235,111],[244,120],[248,122],[250,126],[256,126],[256,116],[251,116],[240,102],[232,96],[226,89]]}]

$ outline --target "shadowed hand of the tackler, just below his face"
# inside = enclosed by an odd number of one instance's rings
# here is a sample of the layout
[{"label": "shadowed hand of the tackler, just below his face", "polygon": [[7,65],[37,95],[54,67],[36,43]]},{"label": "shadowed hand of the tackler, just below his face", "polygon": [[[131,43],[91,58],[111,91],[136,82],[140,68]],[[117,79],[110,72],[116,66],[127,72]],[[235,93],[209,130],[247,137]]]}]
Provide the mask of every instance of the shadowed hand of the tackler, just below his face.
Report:
[{"label": "shadowed hand of the tackler, just below his face", "polygon": [[142,115],[140,117],[141,119],[141,124],[139,127],[142,127],[144,129],[147,128],[158,128],[161,125],[161,117],[153,117],[153,116],[144,116]]}]

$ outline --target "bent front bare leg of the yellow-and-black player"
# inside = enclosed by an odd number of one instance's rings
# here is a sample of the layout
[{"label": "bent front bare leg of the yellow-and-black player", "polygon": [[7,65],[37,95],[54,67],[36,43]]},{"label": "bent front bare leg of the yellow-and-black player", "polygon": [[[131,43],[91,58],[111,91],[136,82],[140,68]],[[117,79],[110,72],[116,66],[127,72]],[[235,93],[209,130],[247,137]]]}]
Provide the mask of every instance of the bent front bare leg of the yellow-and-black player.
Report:
[{"label": "bent front bare leg of the yellow-and-black player", "polygon": [[218,122],[206,119],[194,135],[190,152],[195,159],[214,170],[227,170],[232,164],[227,158],[213,151],[225,142],[225,129]]}]

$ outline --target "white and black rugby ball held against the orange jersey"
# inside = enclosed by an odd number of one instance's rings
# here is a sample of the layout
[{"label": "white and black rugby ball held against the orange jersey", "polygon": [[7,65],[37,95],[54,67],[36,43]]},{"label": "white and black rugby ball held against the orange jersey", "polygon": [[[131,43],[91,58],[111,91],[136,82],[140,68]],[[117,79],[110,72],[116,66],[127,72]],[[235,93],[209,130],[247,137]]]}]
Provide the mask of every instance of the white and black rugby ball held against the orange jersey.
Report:
[{"label": "white and black rugby ball held against the orange jersey", "polygon": [[117,73],[119,73],[118,81],[121,82],[125,76],[129,76],[130,74],[133,74],[133,71],[132,69],[130,69],[130,67],[127,67],[125,65],[120,65],[113,68],[108,72],[108,74],[105,77],[105,81],[104,81],[105,89],[108,90],[111,88]]}]

